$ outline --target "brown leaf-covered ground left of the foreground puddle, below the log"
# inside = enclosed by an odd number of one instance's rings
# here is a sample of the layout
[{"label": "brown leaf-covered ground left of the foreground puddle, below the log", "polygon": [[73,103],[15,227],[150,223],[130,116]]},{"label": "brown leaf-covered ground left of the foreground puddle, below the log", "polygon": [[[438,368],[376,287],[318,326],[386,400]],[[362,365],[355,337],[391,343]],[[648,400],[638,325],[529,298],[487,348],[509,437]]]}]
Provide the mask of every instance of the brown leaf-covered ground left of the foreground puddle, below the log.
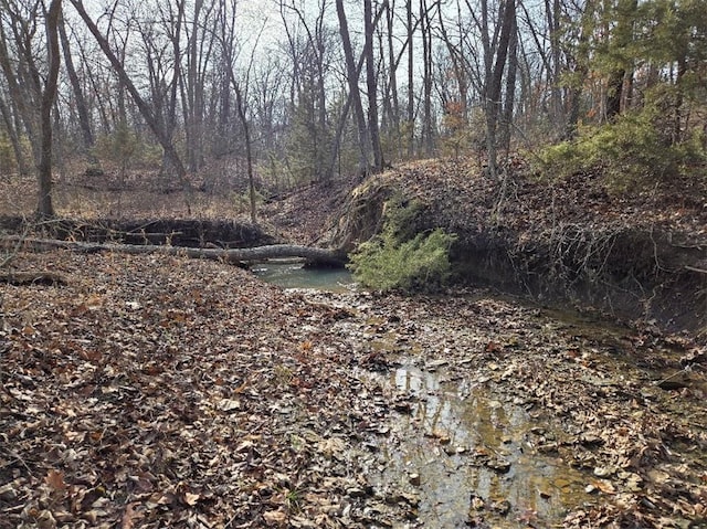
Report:
[{"label": "brown leaf-covered ground left of the foreground puddle, below the log", "polygon": [[13,266],[67,284],[0,287],[0,527],[362,527],[345,311],[193,260]]}]

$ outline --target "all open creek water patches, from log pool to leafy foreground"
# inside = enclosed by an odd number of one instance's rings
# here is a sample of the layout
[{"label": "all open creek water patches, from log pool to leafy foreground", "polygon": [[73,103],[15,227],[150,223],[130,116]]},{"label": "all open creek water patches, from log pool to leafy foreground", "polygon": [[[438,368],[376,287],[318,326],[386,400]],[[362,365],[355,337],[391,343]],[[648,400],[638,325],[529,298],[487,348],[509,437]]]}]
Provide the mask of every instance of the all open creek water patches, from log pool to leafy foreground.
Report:
[{"label": "all open creek water patches, from log pool to leafy foreground", "polygon": [[[348,271],[266,264],[254,272],[285,288],[355,288]],[[615,343],[606,349],[614,351],[611,358],[603,356],[602,361],[611,372],[623,371],[620,329],[560,313],[548,313],[544,321],[550,331],[570,329],[580,340]],[[394,402],[384,432],[367,440],[362,455],[378,496],[409,506],[410,522],[393,527],[561,527],[568,512],[602,500],[595,490],[588,491],[591,474],[558,456],[553,446],[563,432],[553,431],[557,426],[544,421],[537,408],[513,394],[494,394],[483,379],[454,375],[445,359],[421,362],[415,357],[419,347],[410,343],[408,355],[387,371],[354,373]],[[399,352],[384,336],[374,338],[371,349]],[[646,380],[664,375],[644,374]],[[481,522],[475,526],[477,515]]]}]

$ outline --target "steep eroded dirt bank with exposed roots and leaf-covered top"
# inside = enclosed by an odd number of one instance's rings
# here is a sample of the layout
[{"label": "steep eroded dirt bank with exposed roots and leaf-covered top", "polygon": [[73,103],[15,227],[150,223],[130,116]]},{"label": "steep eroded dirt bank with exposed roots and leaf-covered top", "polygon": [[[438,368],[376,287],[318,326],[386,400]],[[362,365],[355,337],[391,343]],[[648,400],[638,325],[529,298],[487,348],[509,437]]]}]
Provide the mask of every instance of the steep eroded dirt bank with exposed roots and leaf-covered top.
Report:
[{"label": "steep eroded dirt bank with exposed roots and leaf-covered top", "polygon": [[707,340],[704,182],[620,193],[600,176],[539,181],[521,160],[499,181],[469,161],[419,161],[355,189],[333,244],[354,247],[380,230],[395,193],[421,205],[418,232],[458,236],[451,255],[457,285],[657,321]]}]

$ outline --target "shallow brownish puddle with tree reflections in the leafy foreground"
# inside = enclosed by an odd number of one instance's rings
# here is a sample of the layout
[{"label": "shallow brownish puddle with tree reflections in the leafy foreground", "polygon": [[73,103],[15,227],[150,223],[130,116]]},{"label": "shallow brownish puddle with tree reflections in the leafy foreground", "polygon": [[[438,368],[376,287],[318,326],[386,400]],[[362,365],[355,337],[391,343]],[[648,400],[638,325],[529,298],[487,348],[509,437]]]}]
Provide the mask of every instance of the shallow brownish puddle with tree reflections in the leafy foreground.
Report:
[{"label": "shallow brownish puddle with tree reflections in the leafy foreground", "polygon": [[551,454],[553,433],[520,405],[496,400],[483,385],[445,381],[443,372],[411,366],[371,377],[415,396],[410,413],[397,415],[391,430],[373,440],[379,452],[369,479],[379,490],[418,498],[408,501],[416,504],[419,527],[469,527],[473,520],[549,527],[595,501],[584,491],[589,476]]}]

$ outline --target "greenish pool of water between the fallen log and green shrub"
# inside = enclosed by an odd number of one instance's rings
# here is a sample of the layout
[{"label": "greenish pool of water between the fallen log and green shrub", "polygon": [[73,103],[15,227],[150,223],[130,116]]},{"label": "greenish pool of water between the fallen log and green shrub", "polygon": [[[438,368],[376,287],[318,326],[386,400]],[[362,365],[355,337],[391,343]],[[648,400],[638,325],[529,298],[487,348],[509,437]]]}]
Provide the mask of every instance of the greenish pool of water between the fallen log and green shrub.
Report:
[{"label": "greenish pool of water between the fallen log and green shrub", "polygon": [[355,281],[346,268],[305,268],[303,263],[267,262],[251,267],[261,279],[283,288],[313,288],[328,292],[350,292]]}]

